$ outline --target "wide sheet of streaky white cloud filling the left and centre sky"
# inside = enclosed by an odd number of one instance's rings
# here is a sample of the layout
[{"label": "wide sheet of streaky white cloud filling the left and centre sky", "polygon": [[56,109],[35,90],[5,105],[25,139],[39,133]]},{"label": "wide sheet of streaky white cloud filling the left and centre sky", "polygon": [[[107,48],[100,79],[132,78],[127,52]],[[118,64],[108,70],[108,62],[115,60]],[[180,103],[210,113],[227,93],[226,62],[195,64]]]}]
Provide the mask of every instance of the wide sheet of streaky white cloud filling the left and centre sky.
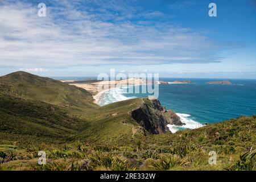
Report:
[{"label": "wide sheet of streaky white cloud filling the left and centre sky", "polygon": [[222,47],[189,28],[137,24],[129,20],[137,10],[123,2],[86,2],[94,6],[79,10],[80,1],[56,1],[60,4],[47,6],[46,18],[37,16],[35,5],[0,3],[0,67],[218,61]]}]

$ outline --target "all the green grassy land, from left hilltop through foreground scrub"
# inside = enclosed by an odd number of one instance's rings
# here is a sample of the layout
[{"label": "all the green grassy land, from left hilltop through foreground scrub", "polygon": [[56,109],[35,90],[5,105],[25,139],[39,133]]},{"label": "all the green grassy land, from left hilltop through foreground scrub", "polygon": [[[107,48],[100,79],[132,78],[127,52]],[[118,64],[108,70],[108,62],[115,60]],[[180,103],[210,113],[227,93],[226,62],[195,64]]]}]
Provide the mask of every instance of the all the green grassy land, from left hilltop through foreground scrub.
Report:
[{"label": "all the green grassy land, from left hilltop through foreground scrub", "polygon": [[[25,72],[0,77],[0,90],[0,170],[255,170],[255,116],[151,134],[143,122],[158,127],[163,115],[146,99],[100,107],[86,90]],[[138,108],[146,120],[133,119]]]}]

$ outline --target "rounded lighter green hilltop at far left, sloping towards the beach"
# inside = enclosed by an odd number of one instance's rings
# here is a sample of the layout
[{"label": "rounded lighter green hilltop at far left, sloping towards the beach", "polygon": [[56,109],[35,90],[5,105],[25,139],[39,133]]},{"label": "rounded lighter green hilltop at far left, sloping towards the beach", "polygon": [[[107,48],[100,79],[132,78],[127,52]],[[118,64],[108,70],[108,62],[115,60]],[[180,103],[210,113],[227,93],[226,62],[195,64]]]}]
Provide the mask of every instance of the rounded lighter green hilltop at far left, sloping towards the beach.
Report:
[{"label": "rounded lighter green hilltop at far left, sloping towards the beach", "polygon": [[91,94],[84,89],[22,71],[0,77],[0,92],[65,107],[98,107],[93,104]]}]

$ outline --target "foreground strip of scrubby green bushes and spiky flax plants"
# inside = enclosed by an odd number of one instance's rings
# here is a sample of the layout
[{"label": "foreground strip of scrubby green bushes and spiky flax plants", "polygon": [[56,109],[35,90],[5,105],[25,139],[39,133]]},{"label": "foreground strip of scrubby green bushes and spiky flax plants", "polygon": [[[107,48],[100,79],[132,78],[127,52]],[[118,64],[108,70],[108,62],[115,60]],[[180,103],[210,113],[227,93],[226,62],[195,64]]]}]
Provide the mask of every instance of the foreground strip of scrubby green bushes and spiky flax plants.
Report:
[{"label": "foreground strip of scrubby green bushes and spiky flax plants", "polygon": [[[114,141],[45,144],[1,140],[2,170],[255,170],[256,117],[241,117],[176,134]],[[37,164],[46,151],[47,164]],[[217,164],[210,165],[209,151]],[[250,152],[251,151],[251,152]]]}]

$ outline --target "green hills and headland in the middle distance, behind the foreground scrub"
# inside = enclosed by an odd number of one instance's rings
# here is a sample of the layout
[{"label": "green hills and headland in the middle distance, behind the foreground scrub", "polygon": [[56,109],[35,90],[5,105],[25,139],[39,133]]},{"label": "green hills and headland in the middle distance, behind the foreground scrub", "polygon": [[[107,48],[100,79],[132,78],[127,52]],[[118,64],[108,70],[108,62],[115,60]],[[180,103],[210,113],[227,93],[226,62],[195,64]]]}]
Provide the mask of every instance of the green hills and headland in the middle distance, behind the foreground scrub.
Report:
[{"label": "green hills and headland in the middle distance, behind the foreground scrub", "polygon": [[[84,89],[26,72],[0,77],[0,90],[0,132],[26,134],[27,139],[32,135],[53,142],[65,138],[119,143],[135,134],[164,133],[164,125],[174,117],[160,111],[159,102],[141,98],[100,107]],[[141,111],[143,117],[132,111]]]}]

